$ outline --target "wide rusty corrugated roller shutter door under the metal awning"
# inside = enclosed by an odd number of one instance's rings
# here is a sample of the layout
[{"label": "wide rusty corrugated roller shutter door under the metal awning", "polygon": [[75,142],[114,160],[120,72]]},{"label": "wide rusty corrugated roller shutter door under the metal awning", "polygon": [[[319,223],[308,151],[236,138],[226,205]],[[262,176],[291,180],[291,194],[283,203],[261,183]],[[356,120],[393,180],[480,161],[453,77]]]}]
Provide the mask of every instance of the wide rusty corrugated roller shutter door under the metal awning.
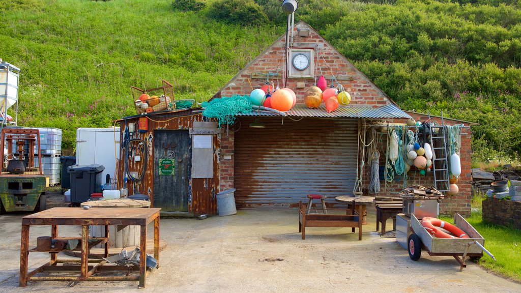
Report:
[{"label": "wide rusty corrugated roller shutter door under the metal awning", "polygon": [[356,178],[357,120],[261,117],[235,132],[234,185],[238,209],[292,209],[306,194],[352,195]]}]

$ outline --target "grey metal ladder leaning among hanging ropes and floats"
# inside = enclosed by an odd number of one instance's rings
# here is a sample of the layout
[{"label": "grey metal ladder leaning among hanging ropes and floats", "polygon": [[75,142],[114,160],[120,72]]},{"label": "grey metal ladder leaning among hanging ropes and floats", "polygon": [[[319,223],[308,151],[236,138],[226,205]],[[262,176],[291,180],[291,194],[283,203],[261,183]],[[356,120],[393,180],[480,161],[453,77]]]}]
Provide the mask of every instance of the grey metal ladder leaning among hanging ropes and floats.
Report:
[{"label": "grey metal ladder leaning among hanging ropes and floats", "polygon": [[[430,111],[428,112],[429,121],[430,121]],[[445,192],[449,191],[450,182],[449,182],[449,162],[447,145],[445,139],[445,131],[444,131],[445,121],[443,119],[443,112],[441,112],[441,125],[435,126],[438,128],[438,133],[432,132],[432,124],[429,127],[430,131],[430,145],[432,148],[432,153],[434,154],[434,158],[432,160],[432,174],[434,175],[434,188],[438,191]],[[443,133],[440,135],[440,133]],[[434,136],[434,135],[437,136]],[[435,144],[436,143],[436,144]],[[440,146],[441,144],[441,146]]]}]

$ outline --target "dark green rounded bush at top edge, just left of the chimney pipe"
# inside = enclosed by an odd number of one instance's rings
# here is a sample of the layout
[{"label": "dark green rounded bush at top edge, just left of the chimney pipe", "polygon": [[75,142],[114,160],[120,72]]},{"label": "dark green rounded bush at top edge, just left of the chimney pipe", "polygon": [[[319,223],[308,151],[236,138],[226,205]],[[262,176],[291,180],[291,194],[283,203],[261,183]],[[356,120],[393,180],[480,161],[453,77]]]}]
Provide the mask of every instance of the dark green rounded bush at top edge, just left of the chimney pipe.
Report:
[{"label": "dark green rounded bush at top edge, just left of the chimney pipe", "polygon": [[253,0],[217,0],[210,5],[208,16],[242,26],[266,25],[268,17]]}]

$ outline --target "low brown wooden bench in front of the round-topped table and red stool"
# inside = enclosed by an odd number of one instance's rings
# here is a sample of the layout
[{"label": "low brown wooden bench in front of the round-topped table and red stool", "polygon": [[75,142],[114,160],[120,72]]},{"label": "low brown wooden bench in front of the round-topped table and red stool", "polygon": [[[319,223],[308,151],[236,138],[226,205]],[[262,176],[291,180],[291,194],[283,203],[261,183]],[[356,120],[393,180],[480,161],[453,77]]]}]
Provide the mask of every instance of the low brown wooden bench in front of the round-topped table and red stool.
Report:
[{"label": "low brown wooden bench in front of the round-topped table and red stool", "polygon": [[306,239],[306,227],[351,227],[354,233],[358,227],[358,240],[362,240],[362,216],[355,211],[355,202],[350,209],[328,209],[328,211],[345,211],[345,215],[335,214],[306,214],[306,206],[299,203],[299,233]]}]

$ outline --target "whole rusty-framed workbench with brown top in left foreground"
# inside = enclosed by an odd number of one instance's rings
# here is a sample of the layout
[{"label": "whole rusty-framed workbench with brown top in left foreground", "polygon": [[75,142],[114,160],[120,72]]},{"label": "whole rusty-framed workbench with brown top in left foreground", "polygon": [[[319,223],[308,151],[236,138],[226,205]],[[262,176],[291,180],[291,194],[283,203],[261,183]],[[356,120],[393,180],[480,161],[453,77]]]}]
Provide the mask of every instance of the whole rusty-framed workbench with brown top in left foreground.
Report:
[{"label": "whole rusty-framed workbench with brown top in left foreground", "polygon": [[[134,270],[139,268],[139,276],[94,276],[101,271],[118,271],[123,270],[129,273],[129,267],[117,265],[104,265],[105,260],[89,260],[89,249],[97,243],[105,244],[105,257],[108,257],[108,226],[109,225],[138,225],[141,226],[141,243],[140,243],[140,259],[146,260],[146,225],[154,221],[154,258],[159,264],[159,211],[161,209],[128,209],[107,207],[106,209],[89,209],[84,210],[81,207],[54,207],[22,218],[22,234],[20,246],[20,287],[27,286],[28,281],[117,281],[117,280],[139,280],[139,287],[145,286],[146,261],[141,261],[139,267],[131,265]],[[57,254],[61,251],[49,250],[45,251],[51,254],[51,260],[46,264],[36,268],[36,270],[28,273],[29,252],[29,228],[31,225],[49,225],[51,226],[51,237],[67,241],[69,239],[81,240],[81,261],[59,260]],[[59,225],[75,225],[81,226],[81,237],[58,237]],[[105,237],[90,238],[89,243],[89,226],[104,225]],[[80,265],[57,265],[58,263],[79,262]],[[98,263],[89,265],[89,263]],[[80,276],[34,276],[41,272],[71,272],[80,271]]]}]

